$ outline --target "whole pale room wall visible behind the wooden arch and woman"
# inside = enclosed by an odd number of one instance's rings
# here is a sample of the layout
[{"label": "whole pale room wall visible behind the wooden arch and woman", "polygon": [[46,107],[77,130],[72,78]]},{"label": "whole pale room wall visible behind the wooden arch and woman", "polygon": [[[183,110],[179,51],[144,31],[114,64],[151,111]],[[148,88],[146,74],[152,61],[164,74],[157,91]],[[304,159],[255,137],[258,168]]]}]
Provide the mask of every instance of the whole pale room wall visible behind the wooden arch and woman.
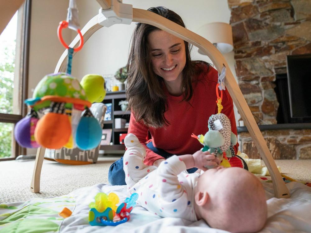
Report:
[{"label": "whole pale room wall visible behind the wooden arch and woman", "polygon": [[[188,6],[186,0],[124,0],[135,8],[148,9],[153,6],[165,6],[178,13],[186,27],[194,32],[211,22],[230,21],[227,0],[196,0]],[[77,0],[81,28],[98,14],[100,5],[95,0]],[[31,7],[30,58],[28,96],[32,96],[41,78],[54,71],[59,57],[65,50],[57,38],[57,27],[67,16],[68,0],[33,0]],[[81,79],[88,73],[114,74],[127,63],[128,49],[135,23],[131,25],[113,25],[95,32],[84,47],[73,58],[72,75]],[[76,36],[73,30],[63,30],[64,40],[69,44]],[[224,55],[235,76],[234,53]],[[193,47],[192,58],[211,62]]]}]

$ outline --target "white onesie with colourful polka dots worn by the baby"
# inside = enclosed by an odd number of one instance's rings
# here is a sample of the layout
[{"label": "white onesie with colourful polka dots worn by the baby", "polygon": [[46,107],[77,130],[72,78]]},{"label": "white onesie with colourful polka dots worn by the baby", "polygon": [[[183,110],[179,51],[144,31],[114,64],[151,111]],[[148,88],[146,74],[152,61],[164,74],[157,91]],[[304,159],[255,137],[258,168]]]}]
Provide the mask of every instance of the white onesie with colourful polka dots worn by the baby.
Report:
[{"label": "white onesie with colourful polka dots worn by the baby", "polygon": [[197,221],[194,212],[194,190],[199,173],[188,174],[178,156],[161,162],[159,167],[143,163],[146,150],[133,134],[124,139],[125,182],[129,193],[139,194],[138,203],[162,217],[179,217]]}]

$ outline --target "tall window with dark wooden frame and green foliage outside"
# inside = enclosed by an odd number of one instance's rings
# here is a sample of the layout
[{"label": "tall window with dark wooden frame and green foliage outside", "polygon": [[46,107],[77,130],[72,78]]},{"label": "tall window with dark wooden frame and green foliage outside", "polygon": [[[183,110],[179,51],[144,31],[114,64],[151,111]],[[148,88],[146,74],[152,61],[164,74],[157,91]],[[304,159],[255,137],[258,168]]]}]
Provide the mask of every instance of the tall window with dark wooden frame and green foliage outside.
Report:
[{"label": "tall window with dark wooden frame and green foliage outside", "polygon": [[0,160],[26,152],[14,139],[14,126],[26,114],[29,9],[27,0],[0,34]]}]

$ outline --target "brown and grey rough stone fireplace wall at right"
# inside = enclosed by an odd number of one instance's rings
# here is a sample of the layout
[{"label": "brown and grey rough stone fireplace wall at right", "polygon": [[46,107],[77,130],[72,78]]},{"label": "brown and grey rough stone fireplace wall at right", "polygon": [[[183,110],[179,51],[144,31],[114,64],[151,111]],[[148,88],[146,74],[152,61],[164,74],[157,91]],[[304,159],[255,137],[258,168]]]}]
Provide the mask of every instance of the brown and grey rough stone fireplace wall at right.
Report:
[{"label": "brown and grey rough stone fireplace wall at right", "polygon": [[[286,75],[286,56],[311,53],[310,0],[228,0],[239,87],[275,159],[311,159],[310,124],[278,127],[276,75]],[[311,64],[310,64],[311,66]],[[310,103],[311,104],[311,103]],[[243,128],[243,127],[241,127]],[[247,130],[240,150],[260,158]]]}]

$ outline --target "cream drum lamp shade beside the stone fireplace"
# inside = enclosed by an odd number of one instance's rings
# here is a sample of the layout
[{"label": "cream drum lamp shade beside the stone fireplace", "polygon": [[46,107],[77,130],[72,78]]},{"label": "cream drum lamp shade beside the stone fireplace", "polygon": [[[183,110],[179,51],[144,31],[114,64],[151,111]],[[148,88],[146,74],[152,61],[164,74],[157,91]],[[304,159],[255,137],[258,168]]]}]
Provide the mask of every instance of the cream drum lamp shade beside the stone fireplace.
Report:
[{"label": "cream drum lamp shade beside the stone fireplace", "polygon": [[[216,45],[220,53],[230,53],[233,50],[232,27],[230,24],[221,22],[205,24],[198,29],[197,34]],[[201,49],[198,52],[206,55]]]}]

